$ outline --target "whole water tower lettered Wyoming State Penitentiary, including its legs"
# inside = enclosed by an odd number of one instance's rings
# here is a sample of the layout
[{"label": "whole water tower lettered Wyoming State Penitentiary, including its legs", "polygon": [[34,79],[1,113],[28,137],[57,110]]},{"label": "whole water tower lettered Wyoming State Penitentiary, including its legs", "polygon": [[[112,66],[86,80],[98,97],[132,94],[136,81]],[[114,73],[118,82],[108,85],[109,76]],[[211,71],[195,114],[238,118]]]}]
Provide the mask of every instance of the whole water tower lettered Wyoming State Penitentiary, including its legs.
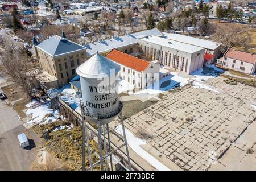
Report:
[{"label": "whole water tower lettered Wyoming State Penitentiary, including its legs", "polygon": [[[127,147],[125,126],[122,119],[122,99],[118,94],[118,79],[117,74],[120,71],[118,64],[115,64],[112,60],[101,56],[96,53],[85,63],[81,64],[76,72],[80,76],[82,102],[82,168],[85,169],[85,145],[88,147],[88,155],[90,162],[90,169],[93,170],[96,164],[100,164],[101,170],[104,169],[104,163],[106,164],[106,170],[109,169],[108,163],[110,162],[110,169],[112,169],[112,160],[114,152],[121,150],[122,147],[126,147],[127,165],[126,169],[131,170],[131,163],[129,157],[129,151]],[[121,125],[123,130],[123,144],[120,146],[113,146],[110,139],[110,127],[109,123],[113,121],[117,116],[120,116]],[[96,163],[92,163],[91,148],[88,135],[88,119],[97,124],[97,139],[98,146],[100,148],[100,160]],[[86,143],[85,143],[86,138]],[[102,144],[104,146],[104,153],[102,154]]]}]

